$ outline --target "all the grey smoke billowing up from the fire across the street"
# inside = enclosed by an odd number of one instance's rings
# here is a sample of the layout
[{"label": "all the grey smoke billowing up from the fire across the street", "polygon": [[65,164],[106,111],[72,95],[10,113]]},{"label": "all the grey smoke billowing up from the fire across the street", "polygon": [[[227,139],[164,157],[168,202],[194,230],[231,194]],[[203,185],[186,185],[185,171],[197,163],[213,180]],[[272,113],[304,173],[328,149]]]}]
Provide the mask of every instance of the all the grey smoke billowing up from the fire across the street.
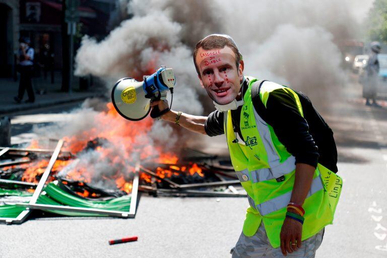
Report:
[{"label": "all the grey smoke billowing up from the fire across the street", "polygon": [[[369,8],[369,1],[366,2]],[[110,92],[119,78],[142,80],[143,75],[153,74],[165,65],[173,68],[176,76],[173,109],[208,114],[214,108],[208,108],[212,101],[200,87],[191,54],[196,42],[206,35],[224,33],[234,38],[243,54],[245,75],[302,90],[314,103],[329,101],[333,97],[331,93],[340,96],[337,89],[345,89],[342,86],[347,84],[341,67],[341,44],[354,39],[361,20],[359,16],[364,15],[364,12],[359,14],[360,0],[356,5],[352,3],[349,0],[238,3],[231,0],[134,0],[127,6],[128,17],[132,18],[122,21],[104,40],[97,42],[89,36],[82,39],[75,73],[101,78]],[[141,146],[147,142],[149,146],[175,146],[177,139],[172,137],[172,127],[164,122],[146,126],[143,121],[135,122],[136,126],[128,126],[127,121],[125,124],[101,123],[100,112],[87,108],[89,104],[75,112],[71,124],[56,124],[50,130],[37,128],[35,131],[48,137],[83,139],[85,131],[93,131],[98,136],[103,127],[122,127],[127,132],[120,131],[114,137],[121,137],[121,140],[125,134],[137,137],[131,143],[121,141],[115,147],[118,157],[127,144]],[[145,132],[140,132],[139,128],[144,128]],[[134,155],[130,160],[141,158],[140,152],[130,153]],[[87,155],[84,157],[88,161],[86,164],[94,164],[95,154]],[[106,164],[93,166],[110,171]]]}]

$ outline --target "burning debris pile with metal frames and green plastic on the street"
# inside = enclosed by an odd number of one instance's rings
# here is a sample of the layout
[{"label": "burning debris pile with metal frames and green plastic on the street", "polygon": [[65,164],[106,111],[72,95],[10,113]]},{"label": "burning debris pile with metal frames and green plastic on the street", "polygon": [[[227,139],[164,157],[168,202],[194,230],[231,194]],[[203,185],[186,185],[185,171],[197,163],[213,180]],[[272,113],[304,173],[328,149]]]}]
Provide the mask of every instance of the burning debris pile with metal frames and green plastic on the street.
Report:
[{"label": "burning debris pile with metal frames and green plastic on the street", "polygon": [[134,217],[138,190],[155,197],[245,196],[232,186],[239,184],[233,169],[219,165],[216,156],[186,149],[178,157],[147,143],[142,132],[152,120],[139,131],[112,109],[100,117],[127,123],[127,131],[90,128],[83,137],[63,137],[55,149],[42,149],[38,141],[28,148],[0,147],[0,221],[22,223],[31,210]]}]

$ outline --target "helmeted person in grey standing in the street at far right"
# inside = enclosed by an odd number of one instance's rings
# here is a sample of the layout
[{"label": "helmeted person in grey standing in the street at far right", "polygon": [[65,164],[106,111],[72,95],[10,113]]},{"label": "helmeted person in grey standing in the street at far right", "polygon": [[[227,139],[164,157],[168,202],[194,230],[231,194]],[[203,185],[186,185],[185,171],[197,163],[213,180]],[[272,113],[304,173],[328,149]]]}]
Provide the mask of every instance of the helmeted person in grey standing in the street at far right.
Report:
[{"label": "helmeted person in grey standing in the street at far right", "polygon": [[[379,74],[379,60],[377,58],[377,54],[380,53],[381,47],[380,43],[377,41],[370,43],[371,47],[371,53],[369,55],[366,67],[365,67],[365,73],[366,78],[363,85],[363,97],[366,99],[365,104],[367,106],[375,106],[380,107],[376,103],[376,92],[377,92],[377,86],[378,86],[378,74]],[[372,100],[372,104],[370,102],[370,99]]]}]

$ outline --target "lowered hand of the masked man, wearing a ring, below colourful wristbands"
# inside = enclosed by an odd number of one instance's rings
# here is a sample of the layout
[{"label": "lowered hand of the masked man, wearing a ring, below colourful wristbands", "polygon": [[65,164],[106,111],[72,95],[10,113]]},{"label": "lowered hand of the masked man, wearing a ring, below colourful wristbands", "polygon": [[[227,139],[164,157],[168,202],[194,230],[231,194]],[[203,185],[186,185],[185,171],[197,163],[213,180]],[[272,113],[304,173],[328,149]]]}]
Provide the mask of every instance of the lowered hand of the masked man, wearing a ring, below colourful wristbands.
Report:
[{"label": "lowered hand of the masked man, wearing a ring, below colourful wristbands", "polygon": [[282,224],[280,241],[281,251],[284,256],[301,247],[302,224],[296,220],[285,218]]}]

